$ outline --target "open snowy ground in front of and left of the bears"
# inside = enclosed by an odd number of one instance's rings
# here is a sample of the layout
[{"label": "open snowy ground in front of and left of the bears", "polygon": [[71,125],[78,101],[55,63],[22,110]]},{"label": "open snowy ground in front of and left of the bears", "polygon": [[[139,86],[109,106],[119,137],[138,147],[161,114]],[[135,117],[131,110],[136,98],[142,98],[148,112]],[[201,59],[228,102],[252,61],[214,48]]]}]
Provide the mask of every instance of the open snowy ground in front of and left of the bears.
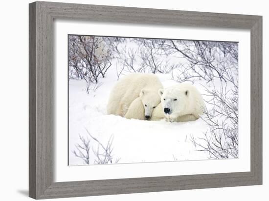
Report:
[{"label": "open snowy ground in front of and left of the bears", "polygon": [[[98,143],[104,146],[112,137],[112,162],[153,162],[206,160],[208,154],[196,151],[190,141],[191,136],[203,137],[208,125],[202,119],[190,122],[139,121],[107,115],[106,105],[109,93],[117,81],[115,69],[100,79],[103,84],[96,90],[86,93],[86,82],[69,80],[69,165],[85,164],[76,157],[73,150],[81,144],[79,136],[90,139],[90,164],[96,163]],[[175,84],[172,76],[157,75],[164,87]],[[200,83],[195,83],[203,93]],[[94,85],[92,85],[93,87]],[[102,152],[99,146],[99,151]]]}]

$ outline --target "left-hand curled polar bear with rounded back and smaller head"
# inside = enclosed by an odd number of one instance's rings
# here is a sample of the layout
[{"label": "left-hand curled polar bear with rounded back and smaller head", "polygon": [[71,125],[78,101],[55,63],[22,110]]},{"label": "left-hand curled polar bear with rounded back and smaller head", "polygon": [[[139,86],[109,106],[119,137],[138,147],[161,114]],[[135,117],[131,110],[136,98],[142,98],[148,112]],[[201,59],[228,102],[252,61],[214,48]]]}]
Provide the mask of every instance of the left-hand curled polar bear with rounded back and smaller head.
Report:
[{"label": "left-hand curled polar bear with rounded back and smaller head", "polygon": [[163,86],[154,74],[130,74],[113,87],[107,112],[127,119],[149,120],[160,103],[158,90],[161,88]]}]

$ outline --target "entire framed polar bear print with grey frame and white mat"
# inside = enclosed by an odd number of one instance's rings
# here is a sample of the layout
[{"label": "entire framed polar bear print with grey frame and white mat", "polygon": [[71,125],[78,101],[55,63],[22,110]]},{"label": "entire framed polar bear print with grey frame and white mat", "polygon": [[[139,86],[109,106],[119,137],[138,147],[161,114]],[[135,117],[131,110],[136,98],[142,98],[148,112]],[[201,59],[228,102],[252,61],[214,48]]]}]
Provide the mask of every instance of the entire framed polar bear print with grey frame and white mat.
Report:
[{"label": "entire framed polar bear print with grey frame and white mat", "polygon": [[261,16],[29,4],[30,197],[258,184]]}]

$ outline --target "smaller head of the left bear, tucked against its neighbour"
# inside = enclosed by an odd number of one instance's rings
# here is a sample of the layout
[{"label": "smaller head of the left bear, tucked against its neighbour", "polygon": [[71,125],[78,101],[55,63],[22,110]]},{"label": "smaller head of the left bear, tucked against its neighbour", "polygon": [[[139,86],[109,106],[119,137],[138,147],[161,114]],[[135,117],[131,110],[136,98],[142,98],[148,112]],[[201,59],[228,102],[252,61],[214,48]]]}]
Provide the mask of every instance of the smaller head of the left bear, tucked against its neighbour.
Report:
[{"label": "smaller head of the left bear, tucked against its neighbour", "polygon": [[144,88],[141,89],[139,97],[145,109],[145,120],[150,120],[153,109],[160,103],[158,92]]}]

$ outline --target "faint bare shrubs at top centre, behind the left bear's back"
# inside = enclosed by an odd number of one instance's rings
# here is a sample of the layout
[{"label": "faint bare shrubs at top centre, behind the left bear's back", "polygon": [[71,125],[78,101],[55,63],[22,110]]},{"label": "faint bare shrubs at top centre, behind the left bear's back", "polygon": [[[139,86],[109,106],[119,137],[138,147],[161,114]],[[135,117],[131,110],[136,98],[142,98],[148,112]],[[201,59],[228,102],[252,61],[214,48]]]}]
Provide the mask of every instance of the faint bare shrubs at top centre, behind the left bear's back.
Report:
[{"label": "faint bare shrubs at top centre, behind the left bear's back", "polygon": [[112,41],[113,57],[121,64],[117,67],[117,75],[124,71],[128,73],[169,73],[179,64],[170,62],[167,55],[157,44],[158,40],[125,39]]}]

